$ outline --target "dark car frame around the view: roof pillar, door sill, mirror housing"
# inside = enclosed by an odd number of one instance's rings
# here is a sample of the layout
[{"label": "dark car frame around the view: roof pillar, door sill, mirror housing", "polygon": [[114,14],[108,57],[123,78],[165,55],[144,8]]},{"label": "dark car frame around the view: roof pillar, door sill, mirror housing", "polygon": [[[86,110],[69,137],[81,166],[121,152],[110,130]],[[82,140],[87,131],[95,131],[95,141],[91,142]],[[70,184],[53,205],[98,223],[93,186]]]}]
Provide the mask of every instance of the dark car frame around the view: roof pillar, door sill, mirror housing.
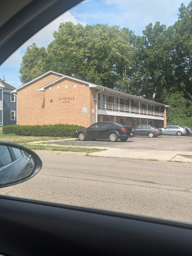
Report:
[{"label": "dark car frame around the view: roof pillar, door sill, mirror housing", "polygon": [[[1,2],[0,64],[41,28],[80,2]],[[10,146],[5,142],[0,145]],[[21,145],[12,146],[34,154]],[[35,172],[27,178],[41,169],[35,155],[34,165]],[[0,226],[0,255],[5,256],[192,254],[189,223],[6,195],[0,195]]]}]

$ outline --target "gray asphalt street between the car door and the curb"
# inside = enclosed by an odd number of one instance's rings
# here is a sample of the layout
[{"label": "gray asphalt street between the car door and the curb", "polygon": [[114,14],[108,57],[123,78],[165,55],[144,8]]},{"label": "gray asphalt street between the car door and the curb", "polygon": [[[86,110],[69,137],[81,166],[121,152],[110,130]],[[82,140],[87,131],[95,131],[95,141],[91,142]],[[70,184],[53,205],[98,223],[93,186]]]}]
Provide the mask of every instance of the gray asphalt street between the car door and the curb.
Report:
[{"label": "gray asphalt street between the car door and the curb", "polygon": [[192,223],[191,164],[39,156],[40,172],[1,194]]}]

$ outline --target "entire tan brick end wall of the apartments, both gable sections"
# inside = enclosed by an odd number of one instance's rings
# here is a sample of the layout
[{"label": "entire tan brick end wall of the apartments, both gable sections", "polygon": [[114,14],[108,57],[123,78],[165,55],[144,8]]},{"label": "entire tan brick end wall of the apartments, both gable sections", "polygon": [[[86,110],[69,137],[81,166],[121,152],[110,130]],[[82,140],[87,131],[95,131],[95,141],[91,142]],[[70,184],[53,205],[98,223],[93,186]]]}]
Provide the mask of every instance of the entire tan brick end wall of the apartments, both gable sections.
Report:
[{"label": "entire tan brick end wall of the apartments, both gable sections", "polygon": [[58,77],[48,75],[17,92],[18,124],[62,123],[87,127],[96,122],[94,98],[97,90],[89,88],[88,84],[64,78],[47,87],[45,91],[36,91]]}]

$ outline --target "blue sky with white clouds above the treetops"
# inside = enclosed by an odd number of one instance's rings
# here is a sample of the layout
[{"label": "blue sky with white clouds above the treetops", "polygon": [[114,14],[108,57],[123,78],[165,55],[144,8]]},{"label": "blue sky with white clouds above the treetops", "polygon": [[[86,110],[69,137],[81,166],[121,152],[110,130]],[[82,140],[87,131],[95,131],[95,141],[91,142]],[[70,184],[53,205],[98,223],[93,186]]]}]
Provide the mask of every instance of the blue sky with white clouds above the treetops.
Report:
[{"label": "blue sky with white clouds above the treetops", "polygon": [[3,79],[5,75],[8,84],[19,87],[21,82],[18,70],[27,46],[34,42],[38,47],[47,47],[53,40],[53,31],[58,29],[61,22],[118,25],[121,28],[128,27],[141,36],[149,23],[154,25],[159,21],[166,27],[173,25],[178,18],[181,3],[187,6],[189,2],[190,0],[85,0],[51,22],[13,53],[0,66],[0,78]]}]

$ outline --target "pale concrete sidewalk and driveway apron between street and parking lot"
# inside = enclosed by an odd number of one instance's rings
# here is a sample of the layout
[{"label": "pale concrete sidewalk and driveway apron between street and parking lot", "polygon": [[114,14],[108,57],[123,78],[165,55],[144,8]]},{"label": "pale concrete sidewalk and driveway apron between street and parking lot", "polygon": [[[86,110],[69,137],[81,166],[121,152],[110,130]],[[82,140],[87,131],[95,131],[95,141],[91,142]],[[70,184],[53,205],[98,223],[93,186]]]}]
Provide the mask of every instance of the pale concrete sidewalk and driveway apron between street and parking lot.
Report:
[{"label": "pale concrete sidewalk and driveway apron between street and parking lot", "polygon": [[[73,139],[66,139],[66,140],[73,140]],[[63,140],[58,140],[58,141],[63,141]],[[55,142],[55,140],[51,140],[47,142]],[[40,144],[40,143],[41,142],[39,141],[39,142],[30,142],[29,144]],[[50,144],[43,144],[43,145],[50,145]],[[61,146],[58,144],[51,144],[51,145]],[[67,147],[107,149],[104,151],[89,153],[88,154],[89,156],[139,159],[139,160],[179,161],[179,162],[192,163],[192,152],[189,152],[189,151],[116,149],[116,148],[108,148],[108,147],[101,147],[101,146],[73,146],[73,145],[67,145]],[[35,150],[35,152],[37,154],[86,155],[86,153],[82,153],[82,152],[68,152],[68,151]],[[187,156],[181,156],[181,155],[189,155],[191,156],[191,158]]]}]

